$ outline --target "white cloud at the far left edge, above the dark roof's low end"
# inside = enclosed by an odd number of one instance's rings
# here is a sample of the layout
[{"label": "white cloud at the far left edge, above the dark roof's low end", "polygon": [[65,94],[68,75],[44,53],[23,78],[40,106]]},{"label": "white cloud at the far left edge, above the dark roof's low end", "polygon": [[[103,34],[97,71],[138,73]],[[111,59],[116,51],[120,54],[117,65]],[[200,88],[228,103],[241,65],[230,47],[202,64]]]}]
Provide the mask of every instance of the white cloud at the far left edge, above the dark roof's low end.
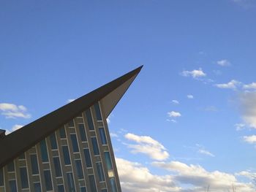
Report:
[{"label": "white cloud at the far left edge, above the dark roof's low end", "polygon": [[31,118],[31,115],[26,112],[26,107],[23,105],[1,103],[0,111],[1,115],[4,115],[6,118]]}]

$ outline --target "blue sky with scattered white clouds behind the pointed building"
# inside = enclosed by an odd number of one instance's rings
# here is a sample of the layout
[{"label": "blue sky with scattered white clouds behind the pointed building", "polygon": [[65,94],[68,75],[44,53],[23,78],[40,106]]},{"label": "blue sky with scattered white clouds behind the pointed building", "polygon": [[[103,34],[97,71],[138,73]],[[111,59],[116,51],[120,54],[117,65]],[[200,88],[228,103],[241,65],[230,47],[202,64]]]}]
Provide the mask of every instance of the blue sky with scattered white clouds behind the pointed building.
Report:
[{"label": "blue sky with scattered white clouds behind the pointed building", "polygon": [[144,65],[109,117],[123,191],[254,190],[255,1],[1,1],[0,18],[0,128]]}]

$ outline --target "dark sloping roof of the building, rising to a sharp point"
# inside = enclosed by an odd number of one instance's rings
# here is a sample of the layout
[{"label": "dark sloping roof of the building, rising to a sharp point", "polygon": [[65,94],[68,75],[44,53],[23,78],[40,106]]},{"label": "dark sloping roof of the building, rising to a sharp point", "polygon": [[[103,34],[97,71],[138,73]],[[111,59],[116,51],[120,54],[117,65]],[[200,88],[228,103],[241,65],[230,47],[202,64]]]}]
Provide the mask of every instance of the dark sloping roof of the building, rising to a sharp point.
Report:
[{"label": "dark sloping roof of the building, rising to a sharp point", "polygon": [[140,66],[85,96],[81,96],[75,101],[60,107],[58,110],[50,112],[48,115],[0,138],[0,168],[101,99],[105,108],[105,117],[108,117],[142,67]]}]

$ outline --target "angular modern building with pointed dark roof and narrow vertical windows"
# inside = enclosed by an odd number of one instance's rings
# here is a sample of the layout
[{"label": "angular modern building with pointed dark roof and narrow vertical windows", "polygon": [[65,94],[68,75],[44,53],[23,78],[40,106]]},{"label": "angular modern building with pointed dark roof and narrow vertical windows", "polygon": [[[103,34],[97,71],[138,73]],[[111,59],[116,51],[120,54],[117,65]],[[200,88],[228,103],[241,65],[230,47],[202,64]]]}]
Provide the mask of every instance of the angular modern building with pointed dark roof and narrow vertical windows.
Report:
[{"label": "angular modern building with pointed dark roof and narrow vertical windows", "polygon": [[121,192],[106,118],[133,70],[27,126],[0,131],[0,192]]}]

